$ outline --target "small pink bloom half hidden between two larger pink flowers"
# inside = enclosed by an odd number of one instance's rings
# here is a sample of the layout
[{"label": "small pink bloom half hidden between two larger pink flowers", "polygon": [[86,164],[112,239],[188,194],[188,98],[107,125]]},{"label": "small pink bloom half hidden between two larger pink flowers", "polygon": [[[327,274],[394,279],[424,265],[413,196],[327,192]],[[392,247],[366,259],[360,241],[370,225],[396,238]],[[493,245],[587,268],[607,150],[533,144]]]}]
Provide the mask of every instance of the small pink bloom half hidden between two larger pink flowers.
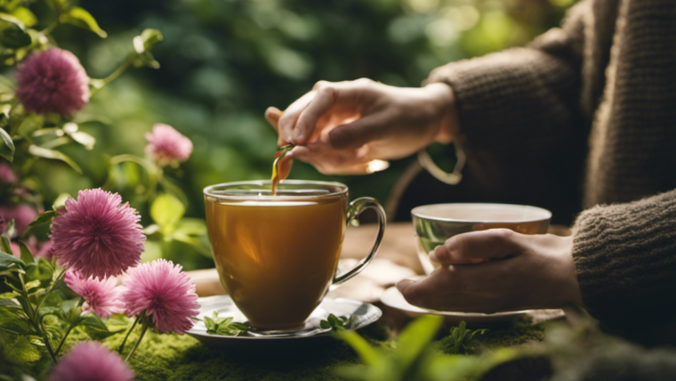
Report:
[{"label": "small pink bloom half hidden between two larger pink flowers", "polygon": [[77,295],[84,298],[86,303],[83,304],[82,311],[91,311],[101,319],[108,319],[114,313],[125,312],[125,303],[119,297],[121,288],[116,287],[115,278],[85,279],[77,272],[68,270],[64,281]]}]

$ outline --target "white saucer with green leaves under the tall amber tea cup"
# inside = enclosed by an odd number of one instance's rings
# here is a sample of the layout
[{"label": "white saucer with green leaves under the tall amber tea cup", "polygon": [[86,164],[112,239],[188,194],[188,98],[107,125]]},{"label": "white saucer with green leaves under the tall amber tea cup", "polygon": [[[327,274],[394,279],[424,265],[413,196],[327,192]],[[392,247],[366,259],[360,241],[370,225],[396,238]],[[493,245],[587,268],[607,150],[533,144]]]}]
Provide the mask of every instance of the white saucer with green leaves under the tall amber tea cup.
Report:
[{"label": "white saucer with green leaves under the tall amber tea cup", "polygon": [[[219,318],[232,317],[234,321],[245,322],[246,318],[237,309],[237,305],[230,296],[207,296],[197,299],[200,304],[198,318],[204,320],[205,316],[212,317],[213,312],[218,312]],[[313,338],[330,337],[330,329],[320,328],[319,321],[326,320],[328,315],[352,317],[350,329],[364,328],[374,323],[382,316],[381,310],[373,304],[358,302],[346,298],[334,298],[326,296],[321,304],[315,309],[310,318],[305,322],[305,327],[292,331],[252,331],[239,336],[211,335],[206,333],[204,321],[197,321],[195,326],[186,333],[197,338],[206,345],[214,346],[252,346],[266,345],[270,341],[298,341]]]}]

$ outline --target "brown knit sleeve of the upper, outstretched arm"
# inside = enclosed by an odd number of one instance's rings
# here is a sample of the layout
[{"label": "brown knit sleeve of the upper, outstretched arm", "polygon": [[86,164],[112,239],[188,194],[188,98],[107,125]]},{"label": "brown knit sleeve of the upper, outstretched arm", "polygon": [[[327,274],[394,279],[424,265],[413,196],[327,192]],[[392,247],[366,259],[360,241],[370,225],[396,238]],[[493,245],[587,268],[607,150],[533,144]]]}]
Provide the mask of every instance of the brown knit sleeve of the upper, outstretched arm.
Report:
[{"label": "brown knit sleeve of the upper, outstretched arm", "polygon": [[451,62],[431,72],[427,83],[453,88],[464,146],[499,151],[505,142],[515,142],[521,149],[543,150],[547,142],[570,134],[579,109],[587,8],[587,1],[576,4],[562,28],[526,48]]}]

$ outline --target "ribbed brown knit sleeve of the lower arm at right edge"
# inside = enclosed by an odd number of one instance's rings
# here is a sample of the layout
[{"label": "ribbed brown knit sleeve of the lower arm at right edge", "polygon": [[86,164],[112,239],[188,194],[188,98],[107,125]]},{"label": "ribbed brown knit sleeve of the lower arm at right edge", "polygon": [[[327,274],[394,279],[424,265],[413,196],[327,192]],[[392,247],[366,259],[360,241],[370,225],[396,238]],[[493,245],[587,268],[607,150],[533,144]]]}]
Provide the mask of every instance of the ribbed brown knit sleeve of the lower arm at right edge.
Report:
[{"label": "ribbed brown knit sleeve of the lower arm at right edge", "polygon": [[577,280],[592,316],[629,336],[676,319],[676,190],[592,207],[573,234]]}]

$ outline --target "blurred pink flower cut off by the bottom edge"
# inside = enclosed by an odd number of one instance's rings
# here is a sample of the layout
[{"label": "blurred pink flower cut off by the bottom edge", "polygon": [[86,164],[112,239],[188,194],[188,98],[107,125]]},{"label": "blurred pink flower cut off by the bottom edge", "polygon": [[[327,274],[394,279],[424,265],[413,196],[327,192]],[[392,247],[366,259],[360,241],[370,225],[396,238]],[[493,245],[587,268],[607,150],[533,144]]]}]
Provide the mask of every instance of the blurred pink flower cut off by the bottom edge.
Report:
[{"label": "blurred pink flower cut off by the bottom edge", "polygon": [[119,354],[99,342],[84,341],[54,366],[49,381],[132,381],[134,377]]}]

